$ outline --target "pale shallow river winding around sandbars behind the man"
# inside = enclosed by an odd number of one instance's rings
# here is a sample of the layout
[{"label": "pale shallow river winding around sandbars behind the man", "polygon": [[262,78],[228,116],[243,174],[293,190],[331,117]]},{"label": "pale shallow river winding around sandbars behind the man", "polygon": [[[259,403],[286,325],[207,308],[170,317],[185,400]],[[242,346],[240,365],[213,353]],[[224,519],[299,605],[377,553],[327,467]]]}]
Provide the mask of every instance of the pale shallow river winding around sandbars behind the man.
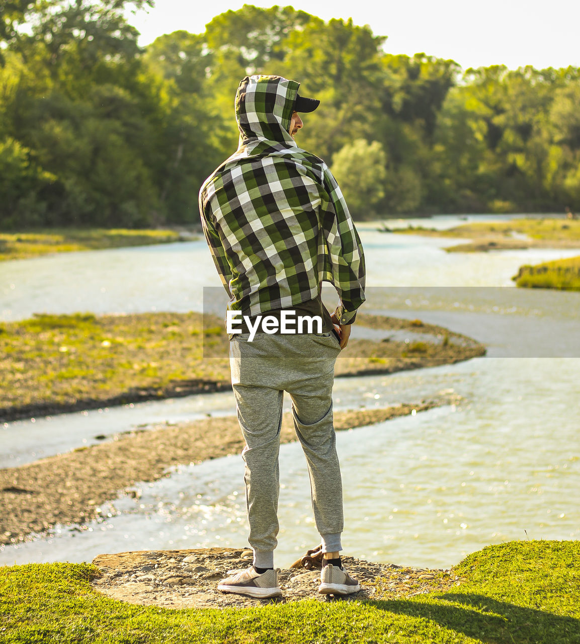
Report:
[{"label": "pale shallow river winding around sandbars behind the man", "polygon": [[[456,218],[438,218],[447,227]],[[423,222],[424,223],[424,222]],[[431,226],[429,222],[427,225]],[[580,536],[580,345],[577,293],[521,290],[524,263],[574,256],[536,249],[444,252],[455,240],[359,225],[368,263],[367,312],[443,324],[489,346],[486,357],[389,376],[337,379],[336,408],[412,402],[453,390],[447,406],[337,435],[347,554],[449,567],[484,545]],[[221,289],[205,242],[62,254],[0,265],[0,314],[201,310]],[[66,414],[1,428],[3,466],[111,437],[137,424],[232,413],[228,392]],[[103,552],[244,545],[239,457],[182,466],[111,499],[79,531],[57,526],[0,551],[0,562],[91,560]],[[281,448],[277,565],[317,544],[308,475],[297,444]],[[111,516],[106,516],[111,515]]]}]

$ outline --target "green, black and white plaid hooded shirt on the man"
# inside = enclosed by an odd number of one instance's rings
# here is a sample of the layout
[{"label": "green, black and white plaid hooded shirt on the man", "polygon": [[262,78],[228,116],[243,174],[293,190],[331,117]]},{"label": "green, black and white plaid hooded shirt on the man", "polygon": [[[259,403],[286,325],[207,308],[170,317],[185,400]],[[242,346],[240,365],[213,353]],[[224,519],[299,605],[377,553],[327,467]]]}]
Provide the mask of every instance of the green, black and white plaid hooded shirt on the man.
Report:
[{"label": "green, black and white plaid hooded shirt on the man", "polygon": [[279,76],[241,81],[239,147],[202,185],[201,223],[230,310],[291,308],[328,281],[348,324],[364,302],[362,246],[330,169],[288,133],[299,86]]}]

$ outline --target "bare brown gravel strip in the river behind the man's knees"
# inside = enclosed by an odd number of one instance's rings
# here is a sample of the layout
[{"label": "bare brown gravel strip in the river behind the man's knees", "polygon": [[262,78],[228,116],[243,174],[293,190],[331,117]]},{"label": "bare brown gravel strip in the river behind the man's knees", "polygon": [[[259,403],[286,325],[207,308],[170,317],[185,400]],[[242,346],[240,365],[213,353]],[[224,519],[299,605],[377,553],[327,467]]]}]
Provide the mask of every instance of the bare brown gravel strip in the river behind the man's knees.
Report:
[{"label": "bare brown gravel strip in the river behind the man's knees", "polygon": [[[458,403],[455,395],[384,409],[335,412],[335,429],[383,422],[436,406]],[[290,413],[283,417],[281,442],[295,440]],[[0,544],[22,542],[55,524],[86,524],[100,518],[100,504],[119,493],[136,497],[133,486],[169,476],[170,468],[239,454],[244,442],[235,416],[117,435],[19,468],[0,469]]]}]

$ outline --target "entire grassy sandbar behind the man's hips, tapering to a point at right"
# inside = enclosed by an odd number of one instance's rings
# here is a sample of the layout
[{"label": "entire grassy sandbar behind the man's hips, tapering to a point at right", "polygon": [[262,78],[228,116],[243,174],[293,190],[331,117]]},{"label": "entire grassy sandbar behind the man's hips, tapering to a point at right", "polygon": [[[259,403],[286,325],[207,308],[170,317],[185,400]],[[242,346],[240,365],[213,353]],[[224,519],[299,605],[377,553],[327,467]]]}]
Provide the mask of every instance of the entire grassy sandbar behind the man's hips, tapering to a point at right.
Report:
[{"label": "entire grassy sandbar behind the man's hips, tapering to a point at right", "polygon": [[[485,354],[419,320],[360,314],[357,327],[409,341],[351,339],[336,375],[389,374]],[[413,340],[416,334],[420,340]],[[199,313],[39,315],[0,324],[0,422],[230,388],[223,320]]]}]

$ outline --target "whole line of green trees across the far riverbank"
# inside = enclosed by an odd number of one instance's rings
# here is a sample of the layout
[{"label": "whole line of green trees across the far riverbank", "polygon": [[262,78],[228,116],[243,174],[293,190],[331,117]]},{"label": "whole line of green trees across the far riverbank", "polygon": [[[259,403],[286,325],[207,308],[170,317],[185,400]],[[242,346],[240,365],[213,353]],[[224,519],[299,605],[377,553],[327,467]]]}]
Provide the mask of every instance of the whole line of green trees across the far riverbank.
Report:
[{"label": "whole line of green trees across the far riverbank", "polygon": [[245,5],[141,48],[127,9],[150,4],[0,3],[1,227],[197,222],[252,73],[321,99],[298,141],[355,218],[580,209],[579,68],[463,71],[290,6]]}]

